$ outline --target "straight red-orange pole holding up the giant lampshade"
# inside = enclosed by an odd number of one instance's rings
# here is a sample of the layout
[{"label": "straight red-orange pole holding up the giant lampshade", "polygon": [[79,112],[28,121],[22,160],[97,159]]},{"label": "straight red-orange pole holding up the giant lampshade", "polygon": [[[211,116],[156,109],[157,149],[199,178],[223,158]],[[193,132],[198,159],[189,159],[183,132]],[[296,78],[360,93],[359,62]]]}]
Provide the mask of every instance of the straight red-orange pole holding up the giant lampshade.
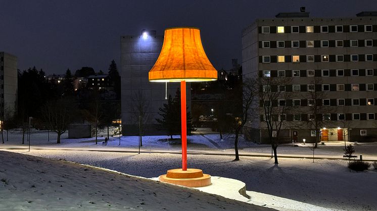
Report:
[{"label": "straight red-orange pole holding up the giant lampshade", "polygon": [[187,171],[187,130],[186,130],[186,82],[180,81],[180,116],[182,139],[182,170]]}]

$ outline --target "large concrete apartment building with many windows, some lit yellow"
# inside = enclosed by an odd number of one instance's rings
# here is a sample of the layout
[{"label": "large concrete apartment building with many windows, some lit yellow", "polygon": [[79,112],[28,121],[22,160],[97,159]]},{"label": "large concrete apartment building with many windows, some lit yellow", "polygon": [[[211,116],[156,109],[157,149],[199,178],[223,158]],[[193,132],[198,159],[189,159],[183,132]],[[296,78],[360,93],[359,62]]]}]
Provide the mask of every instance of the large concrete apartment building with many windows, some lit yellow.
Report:
[{"label": "large concrete apartment building with many windows, some lit yellow", "polygon": [[[320,129],[322,141],[377,141],[377,12],[337,18],[279,13],[245,28],[242,46],[244,77],[290,80],[285,87],[271,87],[296,94],[284,102],[300,111],[283,116],[287,139],[314,142],[315,130],[306,126],[313,101],[305,95],[315,91],[322,96],[316,105],[328,108],[320,114],[326,120]],[[274,100],[271,106],[279,106]],[[251,137],[267,143],[263,109],[259,114],[260,120],[249,124]]]}]

